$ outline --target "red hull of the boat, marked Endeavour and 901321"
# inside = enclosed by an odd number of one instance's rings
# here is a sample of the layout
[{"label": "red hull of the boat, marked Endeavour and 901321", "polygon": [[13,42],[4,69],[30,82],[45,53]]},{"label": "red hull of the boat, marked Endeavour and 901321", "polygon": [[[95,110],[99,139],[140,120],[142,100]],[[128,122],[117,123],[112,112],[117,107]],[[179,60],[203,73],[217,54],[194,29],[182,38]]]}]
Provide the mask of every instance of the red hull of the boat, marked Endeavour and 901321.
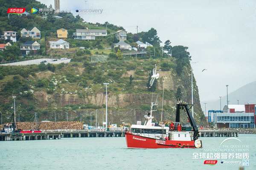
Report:
[{"label": "red hull of the boat, marked Endeavour and 901321", "polygon": [[174,141],[154,139],[126,131],[125,140],[128,148],[195,148],[195,142],[192,141]]}]

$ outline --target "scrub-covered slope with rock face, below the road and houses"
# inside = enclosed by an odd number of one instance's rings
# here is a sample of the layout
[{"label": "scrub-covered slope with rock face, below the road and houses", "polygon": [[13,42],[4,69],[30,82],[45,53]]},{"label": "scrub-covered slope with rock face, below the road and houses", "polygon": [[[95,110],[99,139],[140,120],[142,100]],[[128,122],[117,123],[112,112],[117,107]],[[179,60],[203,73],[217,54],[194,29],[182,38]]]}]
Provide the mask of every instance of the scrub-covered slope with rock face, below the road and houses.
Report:
[{"label": "scrub-covered slope with rock face, below the road and houses", "polygon": [[[171,67],[166,68],[164,63]],[[20,114],[20,121],[32,121],[34,113],[38,113],[38,120],[65,120],[68,113],[69,120],[90,122],[90,112],[98,110],[98,121],[102,122],[105,112],[105,86],[103,82],[110,82],[108,87],[109,121],[115,123],[143,121],[144,114],[149,109],[151,91],[146,87],[148,74],[157,64],[160,78],[157,80],[153,100],[161,103],[163,83],[164,119],[174,119],[177,95],[185,102],[190,99],[189,66],[184,67],[181,75],[175,71],[176,61],[170,59],[148,59],[113,62],[70,62],[67,65],[31,65],[23,67],[0,67],[6,74],[0,80],[0,108],[3,121],[12,117],[12,95],[17,96],[16,111]],[[130,82],[130,76],[134,79]],[[164,82],[163,82],[164,80]],[[180,92],[178,92],[180,88]],[[204,116],[199,104],[198,89],[195,86],[195,117],[198,123],[204,122]],[[178,94],[180,93],[180,94]],[[160,119],[160,108],[155,115]],[[95,112],[93,122],[96,121]],[[186,119],[183,119],[186,122]]]}]

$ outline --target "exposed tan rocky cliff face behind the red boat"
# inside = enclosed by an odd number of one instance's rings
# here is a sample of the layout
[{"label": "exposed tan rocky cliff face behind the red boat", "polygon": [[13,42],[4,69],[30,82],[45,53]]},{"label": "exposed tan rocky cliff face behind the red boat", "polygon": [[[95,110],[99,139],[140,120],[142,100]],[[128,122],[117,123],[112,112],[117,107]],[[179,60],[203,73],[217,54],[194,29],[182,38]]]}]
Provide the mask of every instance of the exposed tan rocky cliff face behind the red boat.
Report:
[{"label": "exposed tan rocky cliff face behind the red boat", "polygon": [[[81,70],[81,68],[78,68]],[[164,120],[175,120],[176,102],[177,102],[177,88],[180,88],[181,95],[179,96],[183,102],[191,103],[191,75],[189,74],[190,68],[185,67],[183,73],[178,76],[175,71],[158,71],[160,78],[157,80],[157,89],[153,94],[153,101],[158,103],[157,112],[154,112],[155,121],[160,121],[161,104],[162,104],[162,93],[163,85],[165,89],[164,93],[164,106],[163,106],[163,119]],[[82,74],[83,71],[80,72]],[[129,79],[130,76],[135,79],[132,82],[132,88],[128,91],[113,91],[110,88],[108,93],[108,122],[111,123],[122,123],[130,122],[136,123],[137,121],[144,122],[144,115],[149,110],[150,103],[152,101],[152,93],[147,91],[146,83],[148,81],[148,75],[136,75],[135,71],[125,71],[122,74],[122,79]],[[55,75],[56,76],[56,75]],[[142,90],[144,89],[144,90]],[[157,98],[158,95],[158,98]],[[72,105],[94,105],[98,107],[97,121],[102,122],[102,116],[105,119],[105,88],[101,87],[101,90],[93,94],[81,95],[78,93],[53,93],[47,94],[45,91],[35,91],[34,93],[36,103],[39,108],[49,108],[54,106],[57,108],[59,113],[59,119],[65,119],[61,108]],[[194,114],[195,120],[198,124],[202,125],[205,123],[203,112],[201,111],[200,100],[198,95],[198,88],[194,79]],[[80,108],[80,109],[69,109],[69,119],[79,120],[79,113],[83,115],[85,122],[88,119],[88,114],[91,111],[95,111],[93,108]],[[51,114],[51,113],[48,113]],[[93,123],[96,122],[95,112],[93,113]],[[182,113],[182,122],[187,123],[185,114]],[[52,117],[52,116],[49,116]],[[47,119],[47,115],[44,115],[42,119]]]}]

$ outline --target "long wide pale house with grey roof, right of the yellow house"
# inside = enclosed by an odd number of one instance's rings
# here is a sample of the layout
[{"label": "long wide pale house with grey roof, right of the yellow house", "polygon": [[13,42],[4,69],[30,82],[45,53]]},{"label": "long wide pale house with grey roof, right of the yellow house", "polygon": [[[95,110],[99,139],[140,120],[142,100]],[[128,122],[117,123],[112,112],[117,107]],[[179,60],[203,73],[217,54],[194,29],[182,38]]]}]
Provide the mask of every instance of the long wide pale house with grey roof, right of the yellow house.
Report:
[{"label": "long wide pale house with grey roof, right of the yellow house", "polygon": [[76,40],[95,40],[95,37],[107,36],[106,29],[76,29],[73,37]]}]

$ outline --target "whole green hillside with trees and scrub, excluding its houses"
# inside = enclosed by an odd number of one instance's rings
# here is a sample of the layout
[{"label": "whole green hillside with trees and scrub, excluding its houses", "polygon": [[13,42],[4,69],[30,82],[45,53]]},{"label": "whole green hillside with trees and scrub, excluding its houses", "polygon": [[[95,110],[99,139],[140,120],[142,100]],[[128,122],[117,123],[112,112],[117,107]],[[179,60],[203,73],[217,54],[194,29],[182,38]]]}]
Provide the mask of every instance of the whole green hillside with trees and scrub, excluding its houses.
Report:
[{"label": "whole green hillside with trees and scrub, excluding its houses", "polygon": [[[160,78],[154,83],[153,100],[158,96],[158,103],[162,103],[161,94],[163,85],[164,94],[164,119],[174,120],[175,105],[179,96],[184,102],[191,103],[191,86],[189,70],[191,69],[191,56],[187,47],[182,45],[172,47],[170,41],[166,41],[164,50],[172,51],[172,57],[162,55],[160,38],[154,28],[147,32],[138,34],[127,34],[127,43],[136,47],[136,41],[147,41],[154,45],[146,49],[145,56],[125,57],[124,51],[111,49],[113,43],[117,42],[111,34],[121,26],[115,26],[108,22],[86,23],[81,17],[72,14],[59,14],[61,20],[55,20],[48,15],[48,19],[41,18],[41,14],[29,16],[10,15],[8,18],[6,10],[15,6],[41,6],[43,4],[35,0],[13,0],[10,6],[8,0],[0,0],[0,33],[6,30],[17,31],[17,42],[12,43],[12,48],[0,52],[0,60],[10,61],[20,59],[21,43],[26,38],[20,38],[22,28],[36,26],[41,30],[41,50],[43,56],[71,58],[69,64],[40,64],[29,66],[0,66],[0,111],[3,112],[3,122],[10,122],[13,113],[12,96],[17,96],[16,111],[17,120],[33,121],[35,112],[38,120],[69,120],[78,121],[80,117],[84,122],[95,123],[95,110],[98,109],[98,122],[102,122],[105,112],[105,86],[109,82],[109,121],[112,123],[131,122],[143,120],[144,114],[148,112],[152,100],[152,92],[148,89],[148,81],[151,70],[157,65]],[[13,5],[15,4],[15,5]],[[108,36],[97,37],[96,40],[81,41],[73,40],[72,34],[76,29],[105,28],[108,25]],[[58,28],[68,30],[67,41],[70,49],[50,49],[48,41],[57,40],[55,31]],[[1,43],[6,43],[3,41]],[[79,49],[84,47],[84,50]],[[170,53],[169,53],[170,54]],[[30,57],[30,56],[28,56]],[[94,62],[91,62],[94,61]],[[195,81],[195,80],[194,80]],[[194,86],[195,119],[199,124],[205,122],[200,107],[198,88]],[[155,121],[160,120],[161,106],[155,113]],[[183,122],[186,118],[183,115]]]}]

